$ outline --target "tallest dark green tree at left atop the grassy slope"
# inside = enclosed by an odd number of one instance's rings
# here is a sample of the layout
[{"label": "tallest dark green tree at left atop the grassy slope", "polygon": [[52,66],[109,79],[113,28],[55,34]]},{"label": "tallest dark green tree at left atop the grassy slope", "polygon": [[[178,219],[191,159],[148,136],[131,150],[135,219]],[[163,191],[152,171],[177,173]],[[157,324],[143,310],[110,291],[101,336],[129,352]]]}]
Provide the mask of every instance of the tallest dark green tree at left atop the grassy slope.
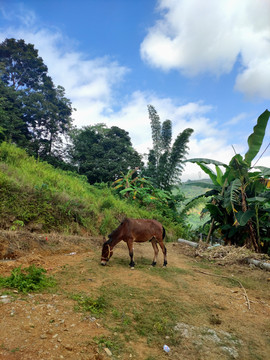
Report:
[{"label": "tallest dark green tree at left atop the grassy slope", "polygon": [[[65,97],[63,87],[55,87],[34,45],[24,40],[3,41],[0,44],[0,78],[10,89],[9,94],[13,94],[14,114],[24,125],[28,152],[46,160],[59,157],[62,137],[72,125],[71,102]],[[4,102],[7,100],[6,97]],[[2,111],[4,109],[2,107]],[[9,127],[6,135],[11,137]]]}]

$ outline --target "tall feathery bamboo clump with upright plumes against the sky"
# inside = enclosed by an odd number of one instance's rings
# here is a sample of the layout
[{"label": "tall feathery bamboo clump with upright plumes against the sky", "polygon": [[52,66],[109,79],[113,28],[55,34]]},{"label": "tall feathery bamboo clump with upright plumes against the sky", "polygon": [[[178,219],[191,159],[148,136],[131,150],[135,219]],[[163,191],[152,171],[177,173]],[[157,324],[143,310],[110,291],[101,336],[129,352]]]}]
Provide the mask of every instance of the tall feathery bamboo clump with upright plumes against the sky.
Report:
[{"label": "tall feathery bamboo clump with upright plumes against the sky", "polygon": [[183,171],[185,155],[188,151],[188,141],[192,129],[185,129],[178,134],[172,144],[172,122],[161,123],[159,115],[152,105],[148,105],[152,129],[153,149],[148,154],[148,165],[145,174],[152,179],[156,187],[171,191],[172,186],[179,181]]}]

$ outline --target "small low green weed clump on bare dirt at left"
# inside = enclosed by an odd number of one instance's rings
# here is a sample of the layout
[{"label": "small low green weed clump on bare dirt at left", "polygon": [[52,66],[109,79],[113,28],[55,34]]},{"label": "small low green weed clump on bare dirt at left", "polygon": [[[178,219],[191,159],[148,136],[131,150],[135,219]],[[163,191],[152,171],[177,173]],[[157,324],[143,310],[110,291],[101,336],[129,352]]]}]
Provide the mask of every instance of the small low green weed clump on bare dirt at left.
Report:
[{"label": "small low green weed clump on bare dirt at left", "polygon": [[35,265],[25,269],[19,266],[12,270],[9,277],[0,277],[0,287],[13,288],[28,293],[55,286],[55,280],[45,274],[45,269],[37,268]]}]

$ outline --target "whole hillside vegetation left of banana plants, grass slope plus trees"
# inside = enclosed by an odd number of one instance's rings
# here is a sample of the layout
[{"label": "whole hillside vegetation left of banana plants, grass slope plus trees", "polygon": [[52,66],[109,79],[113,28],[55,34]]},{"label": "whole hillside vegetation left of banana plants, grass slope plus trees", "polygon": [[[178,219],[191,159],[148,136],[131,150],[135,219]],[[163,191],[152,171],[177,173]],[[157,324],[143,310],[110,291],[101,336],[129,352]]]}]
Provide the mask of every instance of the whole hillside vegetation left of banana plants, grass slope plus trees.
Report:
[{"label": "whole hillside vegetation left of banana plants, grass slope plus trees", "polygon": [[[125,130],[74,128],[64,88],[22,39],[0,43],[0,90],[1,227],[106,234],[128,216],[158,219],[171,237],[185,236],[183,196],[171,190],[192,129],[171,146],[172,122],[161,124],[149,105],[153,156],[143,164]],[[123,188],[111,188],[115,181]]]}]

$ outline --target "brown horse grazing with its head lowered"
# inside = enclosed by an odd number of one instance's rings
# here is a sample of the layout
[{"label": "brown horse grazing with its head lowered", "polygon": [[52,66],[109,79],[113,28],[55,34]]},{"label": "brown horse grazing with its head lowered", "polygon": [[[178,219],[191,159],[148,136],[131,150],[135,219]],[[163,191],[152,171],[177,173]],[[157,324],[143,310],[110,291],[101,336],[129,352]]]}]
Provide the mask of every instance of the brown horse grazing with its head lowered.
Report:
[{"label": "brown horse grazing with its head lowered", "polygon": [[156,220],[148,219],[125,219],[121,222],[117,229],[115,229],[110,235],[109,240],[107,240],[102,247],[101,253],[101,265],[106,265],[110,257],[113,254],[113,248],[121,240],[125,241],[128,246],[130,263],[129,266],[131,269],[134,269],[134,260],[133,260],[133,242],[145,242],[150,241],[154,249],[154,258],[152,266],[155,266],[157,263],[158,256],[158,246],[161,247],[161,250],[164,255],[163,266],[167,265],[167,250],[163,243],[165,237],[164,227]]}]

